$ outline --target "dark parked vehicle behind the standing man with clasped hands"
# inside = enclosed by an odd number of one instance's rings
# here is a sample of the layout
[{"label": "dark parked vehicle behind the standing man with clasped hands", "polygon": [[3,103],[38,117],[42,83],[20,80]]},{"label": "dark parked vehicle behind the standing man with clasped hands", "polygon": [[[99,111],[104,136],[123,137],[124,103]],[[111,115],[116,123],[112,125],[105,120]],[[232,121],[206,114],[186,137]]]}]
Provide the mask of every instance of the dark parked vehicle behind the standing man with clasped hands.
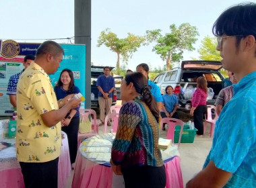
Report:
[{"label": "dark parked vehicle behind the standing man with clasped hands", "polygon": [[[91,107],[96,108],[98,105],[98,87],[96,85],[97,79],[100,75],[103,75],[104,66],[91,66]],[[110,71],[115,68],[110,66]],[[115,89],[113,91],[113,102],[112,105],[117,104],[117,100],[120,100],[120,87],[123,81],[123,77],[114,76],[115,79]]]}]

